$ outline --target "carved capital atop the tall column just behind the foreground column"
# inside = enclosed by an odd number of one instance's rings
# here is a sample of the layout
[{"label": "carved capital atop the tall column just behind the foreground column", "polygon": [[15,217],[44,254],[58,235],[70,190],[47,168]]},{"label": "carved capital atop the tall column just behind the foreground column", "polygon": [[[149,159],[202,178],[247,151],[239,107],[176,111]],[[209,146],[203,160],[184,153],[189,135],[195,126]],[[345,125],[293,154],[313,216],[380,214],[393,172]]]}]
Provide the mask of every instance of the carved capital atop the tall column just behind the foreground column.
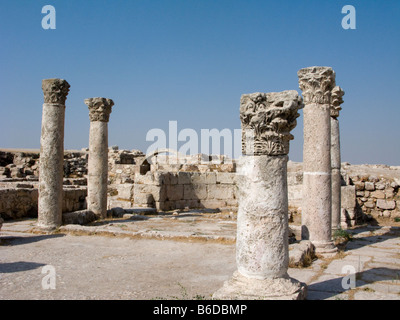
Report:
[{"label": "carved capital atop the tall column just behind the foreground column", "polygon": [[304,104],[330,104],[335,86],[335,71],[330,67],[309,67],[297,72]]}]

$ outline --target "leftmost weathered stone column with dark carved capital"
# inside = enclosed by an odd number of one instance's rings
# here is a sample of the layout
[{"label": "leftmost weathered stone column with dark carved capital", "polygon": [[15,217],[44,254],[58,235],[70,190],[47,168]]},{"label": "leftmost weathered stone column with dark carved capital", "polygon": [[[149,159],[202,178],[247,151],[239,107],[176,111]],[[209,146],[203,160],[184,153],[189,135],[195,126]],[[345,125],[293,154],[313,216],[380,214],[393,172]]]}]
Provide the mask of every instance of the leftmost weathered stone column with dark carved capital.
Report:
[{"label": "leftmost weathered stone column with dark carved capital", "polygon": [[38,227],[51,231],[62,224],[65,100],[70,85],[63,79],[42,81],[44,104],[40,137]]}]

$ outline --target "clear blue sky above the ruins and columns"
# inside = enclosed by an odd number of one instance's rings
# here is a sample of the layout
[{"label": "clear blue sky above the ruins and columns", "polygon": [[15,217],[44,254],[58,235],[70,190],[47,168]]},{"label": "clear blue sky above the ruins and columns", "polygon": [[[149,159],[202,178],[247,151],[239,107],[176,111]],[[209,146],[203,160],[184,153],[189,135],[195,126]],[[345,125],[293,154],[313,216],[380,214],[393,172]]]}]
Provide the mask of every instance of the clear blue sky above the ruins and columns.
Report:
[{"label": "clear blue sky above the ruins and columns", "polygon": [[[44,30],[44,5],[56,29]],[[356,8],[356,30],[341,26]],[[63,78],[65,148],[87,147],[89,97],[115,102],[109,145],[146,151],[146,133],[238,129],[243,93],[299,90],[331,66],[344,96],[342,160],[400,165],[400,1],[1,0],[0,147],[39,148],[41,81]],[[302,114],[302,111],[300,111]],[[302,161],[302,116],[290,158]]]}]

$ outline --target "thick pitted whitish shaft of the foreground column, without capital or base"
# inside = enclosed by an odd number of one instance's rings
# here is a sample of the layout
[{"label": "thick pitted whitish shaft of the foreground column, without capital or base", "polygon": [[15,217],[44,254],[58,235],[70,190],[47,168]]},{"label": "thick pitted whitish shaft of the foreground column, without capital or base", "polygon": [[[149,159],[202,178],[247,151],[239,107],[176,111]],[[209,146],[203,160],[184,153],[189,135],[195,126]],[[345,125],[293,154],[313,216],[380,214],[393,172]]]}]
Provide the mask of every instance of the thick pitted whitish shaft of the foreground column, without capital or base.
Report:
[{"label": "thick pitted whitish shaft of the foreground column, without capital or base", "polygon": [[236,262],[249,278],[287,277],[287,156],[245,156],[239,167]]}]

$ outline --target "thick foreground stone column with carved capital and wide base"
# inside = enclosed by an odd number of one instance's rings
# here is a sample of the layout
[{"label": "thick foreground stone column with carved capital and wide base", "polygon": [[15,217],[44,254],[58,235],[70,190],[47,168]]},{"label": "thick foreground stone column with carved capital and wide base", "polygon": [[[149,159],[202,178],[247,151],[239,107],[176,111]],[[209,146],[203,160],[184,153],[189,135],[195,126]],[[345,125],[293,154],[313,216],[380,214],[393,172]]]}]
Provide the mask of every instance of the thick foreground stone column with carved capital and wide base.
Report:
[{"label": "thick foreground stone column with carved capital and wide base", "polygon": [[[296,91],[241,97],[242,152],[238,164],[237,271],[214,299],[304,299],[290,278],[287,161],[290,131],[302,101]],[[253,139],[247,140],[246,133]]]}]

